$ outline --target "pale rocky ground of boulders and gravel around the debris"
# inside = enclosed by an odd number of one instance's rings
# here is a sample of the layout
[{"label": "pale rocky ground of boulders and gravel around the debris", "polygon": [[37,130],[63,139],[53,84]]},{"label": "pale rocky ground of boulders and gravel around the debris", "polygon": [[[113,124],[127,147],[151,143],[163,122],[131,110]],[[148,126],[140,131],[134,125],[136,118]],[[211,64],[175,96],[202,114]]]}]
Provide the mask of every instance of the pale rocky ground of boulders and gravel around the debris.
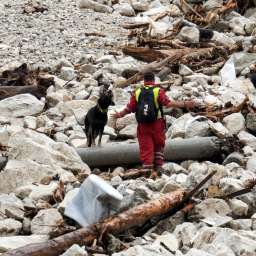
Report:
[{"label": "pale rocky ground of boulders and gravel around the debris", "polygon": [[[203,17],[225,4],[222,0],[186,2],[194,10],[200,10]],[[33,6],[47,10],[24,13],[24,9]],[[86,145],[84,116],[96,105],[105,88],[112,90],[115,103],[108,114],[122,110],[135,91],[131,85],[117,88],[126,80],[122,72],[147,65],[122,53],[122,47],[134,45],[135,37],[128,37],[130,30],[120,25],[152,21],[163,10],[175,8],[175,12],[154,22],[154,31],[159,35],[187,18],[183,9],[191,10],[183,0],[122,0],[119,3],[0,0],[0,73],[13,71],[26,63],[31,70],[39,66],[40,75],[45,79],[53,77],[53,85],[47,89],[45,98],[20,94],[0,101],[0,166],[4,157],[8,158],[0,172],[0,253],[44,242],[57,226],[60,227],[63,219],[67,220],[59,208],[66,207],[82,184],[79,174],[93,171],[75,151]],[[246,44],[252,47],[256,41],[255,13],[256,1],[251,0],[237,1],[237,6],[216,15],[208,26],[214,30],[211,47],[225,46],[227,52],[238,43],[243,49]],[[106,37],[96,36],[100,31]],[[173,42],[180,48],[185,42],[199,44],[199,31],[185,27]],[[253,53],[250,56],[252,62],[253,58],[256,61]],[[97,249],[104,249],[113,256],[256,255],[256,89],[247,75],[255,71],[255,65],[248,64],[237,70],[237,78],[221,85],[219,71],[229,58],[227,54],[221,64],[201,65],[196,69],[191,63],[179,62],[177,72],[173,69],[162,81],[172,81],[165,88],[173,100],[190,98],[208,110],[238,106],[248,95],[247,105],[243,104],[241,110],[216,119],[209,116],[196,119],[199,110],[165,110],[168,113],[167,140],[217,136],[232,141],[229,145],[234,147],[222,146],[218,159],[204,159],[202,163],[201,159],[165,162],[164,173],[157,179],[142,177],[123,181],[119,172],[125,172],[128,166],[110,167],[111,172],[115,171],[107,182],[115,188],[126,185],[119,212],[183,187],[192,190],[209,173],[216,171],[203,185],[203,193],[191,201],[193,208],[189,212],[179,211],[163,221],[152,219],[150,225],[140,228],[145,232],[137,230],[139,235],[126,234],[126,238],[108,235],[103,246]],[[77,65],[79,63],[84,64]],[[136,131],[134,114],[117,121],[109,119],[102,144],[137,142]],[[230,148],[237,152],[225,159]],[[97,174],[96,170],[94,172]],[[59,197],[56,203],[53,194],[60,181],[64,184],[61,190],[64,200]],[[207,198],[210,185],[222,195],[245,187],[252,191],[226,200]],[[70,227],[75,230],[75,225]],[[84,247],[74,245],[63,255],[88,253]]]}]

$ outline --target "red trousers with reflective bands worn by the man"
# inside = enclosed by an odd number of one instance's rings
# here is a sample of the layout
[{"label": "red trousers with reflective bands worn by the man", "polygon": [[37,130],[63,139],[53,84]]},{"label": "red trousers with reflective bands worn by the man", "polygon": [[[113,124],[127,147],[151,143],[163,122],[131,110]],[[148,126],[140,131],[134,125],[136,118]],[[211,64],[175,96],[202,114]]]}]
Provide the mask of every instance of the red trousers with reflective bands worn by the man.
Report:
[{"label": "red trousers with reflective bands worn by the man", "polygon": [[153,124],[138,124],[137,137],[143,168],[162,166],[165,146],[163,119],[159,118]]}]

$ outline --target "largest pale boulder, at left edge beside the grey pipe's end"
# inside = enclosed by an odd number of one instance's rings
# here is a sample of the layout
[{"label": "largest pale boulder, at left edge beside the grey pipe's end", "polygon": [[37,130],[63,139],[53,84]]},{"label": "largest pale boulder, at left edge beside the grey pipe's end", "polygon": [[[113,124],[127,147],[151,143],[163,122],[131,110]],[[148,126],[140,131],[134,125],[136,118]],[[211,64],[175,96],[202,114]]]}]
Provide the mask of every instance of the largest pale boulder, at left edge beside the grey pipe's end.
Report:
[{"label": "largest pale boulder, at left edge beside the grey pipe's end", "polygon": [[75,150],[44,134],[27,131],[9,139],[9,161],[0,172],[0,193],[10,193],[29,182],[41,184],[65,172],[90,172]]}]

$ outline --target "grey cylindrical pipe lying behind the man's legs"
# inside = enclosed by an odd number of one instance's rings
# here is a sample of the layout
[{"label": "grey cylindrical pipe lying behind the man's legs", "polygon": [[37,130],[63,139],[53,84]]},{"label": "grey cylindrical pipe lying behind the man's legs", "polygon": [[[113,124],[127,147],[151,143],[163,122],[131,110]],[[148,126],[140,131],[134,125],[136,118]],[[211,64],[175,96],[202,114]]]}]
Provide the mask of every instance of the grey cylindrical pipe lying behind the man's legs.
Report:
[{"label": "grey cylindrical pipe lying behind the man's legs", "polygon": [[[216,152],[216,137],[165,141],[164,160],[207,159]],[[88,166],[141,163],[139,144],[77,148],[76,152]]]}]

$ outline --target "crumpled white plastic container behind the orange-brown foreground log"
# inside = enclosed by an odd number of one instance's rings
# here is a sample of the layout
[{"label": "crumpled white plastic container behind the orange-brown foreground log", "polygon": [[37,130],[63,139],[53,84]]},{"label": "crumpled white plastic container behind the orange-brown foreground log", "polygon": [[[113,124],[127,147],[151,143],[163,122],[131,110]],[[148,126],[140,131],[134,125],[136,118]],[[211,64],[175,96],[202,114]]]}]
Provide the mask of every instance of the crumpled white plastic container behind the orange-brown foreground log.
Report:
[{"label": "crumpled white plastic container behind the orange-brown foreground log", "polygon": [[[125,188],[120,187],[123,192]],[[64,214],[82,227],[114,215],[123,195],[96,175],[89,175],[79,190],[68,201]]]}]

